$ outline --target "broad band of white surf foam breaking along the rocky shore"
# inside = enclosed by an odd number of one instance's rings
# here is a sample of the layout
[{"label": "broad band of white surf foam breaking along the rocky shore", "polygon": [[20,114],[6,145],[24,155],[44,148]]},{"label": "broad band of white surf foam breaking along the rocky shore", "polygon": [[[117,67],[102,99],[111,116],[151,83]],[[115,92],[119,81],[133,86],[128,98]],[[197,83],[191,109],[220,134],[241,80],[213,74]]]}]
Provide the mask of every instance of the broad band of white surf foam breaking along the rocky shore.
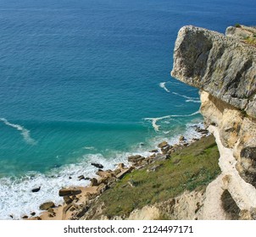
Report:
[{"label": "broad band of white surf foam breaking along the rocky shore", "polygon": [[[116,168],[116,164],[125,163],[127,166],[129,164],[127,157],[140,154],[143,157],[148,157],[154,154],[150,152],[157,149],[160,141],[166,140],[168,143],[174,145],[179,142],[179,137],[183,134],[189,141],[194,138],[198,139],[202,134],[196,131],[198,129],[203,129],[203,122],[198,121],[196,123],[190,122],[186,124],[186,130],[183,133],[179,133],[175,136],[170,136],[168,138],[156,137],[150,142],[150,147],[140,147],[143,148],[143,152],[124,152],[120,157],[114,157],[113,160],[107,160],[104,157],[93,156],[90,160],[85,160],[84,163],[75,163],[70,166],[64,166],[56,171],[51,171],[50,175],[46,174],[32,174],[31,177],[27,176],[25,180],[19,179],[18,181],[11,181],[5,179],[5,185],[2,184],[3,190],[5,191],[4,199],[8,199],[8,206],[3,209],[1,219],[26,219],[40,216],[42,210],[39,209],[40,205],[47,201],[53,201],[55,205],[62,205],[64,203],[63,198],[58,196],[58,190],[62,187],[86,187],[90,185],[90,182],[86,179],[78,179],[79,176],[84,175],[86,178],[96,178],[97,168],[92,167],[90,163],[103,163],[104,170]],[[146,149],[147,148],[147,149]],[[149,151],[149,152],[148,152]],[[41,187],[38,192],[32,193],[31,190]],[[18,190],[18,191],[17,191]],[[21,199],[17,200],[17,196],[21,196]],[[47,198],[43,198],[48,196]],[[3,201],[5,201],[3,199]],[[41,200],[41,201],[40,201]],[[4,206],[3,206],[4,207]],[[21,207],[21,208],[20,208]],[[20,211],[19,211],[20,210]],[[14,214],[13,214],[14,213]],[[25,218],[23,218],[25,217]]]}]

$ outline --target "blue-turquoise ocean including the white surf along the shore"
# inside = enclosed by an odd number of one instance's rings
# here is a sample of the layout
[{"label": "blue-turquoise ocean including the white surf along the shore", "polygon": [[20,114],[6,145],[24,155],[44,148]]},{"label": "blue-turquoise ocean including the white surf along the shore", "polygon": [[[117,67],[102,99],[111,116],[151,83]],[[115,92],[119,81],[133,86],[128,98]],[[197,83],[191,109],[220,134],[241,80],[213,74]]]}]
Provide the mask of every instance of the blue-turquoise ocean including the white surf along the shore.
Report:
[{"label": "blue-turquoise ocean including the white surf along the shore", "polygon": [[92,162],[198,136],[198,90],[170,77],[177,32],[225,33],[255,12],[254,0],[0,0],[0,219],[61,203]]}]

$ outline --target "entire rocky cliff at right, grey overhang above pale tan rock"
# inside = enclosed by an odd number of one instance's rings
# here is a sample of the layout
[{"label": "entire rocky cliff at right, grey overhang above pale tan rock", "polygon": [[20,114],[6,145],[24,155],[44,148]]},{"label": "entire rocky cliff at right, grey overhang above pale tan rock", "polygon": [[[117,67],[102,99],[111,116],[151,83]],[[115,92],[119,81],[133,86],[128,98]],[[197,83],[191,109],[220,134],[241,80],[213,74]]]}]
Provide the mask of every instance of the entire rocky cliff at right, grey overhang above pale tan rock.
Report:
[{"label": "entire rocky cliff at right, grey overhang above pale tan rock", "polygon": [[201,113],[220,151],[221,174],[206,190],[204,219],[256,218],[256,29],[225,35],[184,26],[171,75],[198,87]]}]

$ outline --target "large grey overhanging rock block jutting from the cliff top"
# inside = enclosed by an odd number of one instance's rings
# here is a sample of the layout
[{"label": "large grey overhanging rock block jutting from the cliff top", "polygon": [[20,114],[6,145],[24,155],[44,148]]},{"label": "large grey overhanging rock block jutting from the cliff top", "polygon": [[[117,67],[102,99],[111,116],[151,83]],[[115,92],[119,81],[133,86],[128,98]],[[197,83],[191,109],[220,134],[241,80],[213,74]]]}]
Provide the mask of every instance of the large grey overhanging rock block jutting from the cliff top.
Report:
[{"label": "large grey overhanging rock block jutting from the cliff top", "polygon": [[179,31],[174,52],[173,77],[256,118],[256,47],[189,25]]}]

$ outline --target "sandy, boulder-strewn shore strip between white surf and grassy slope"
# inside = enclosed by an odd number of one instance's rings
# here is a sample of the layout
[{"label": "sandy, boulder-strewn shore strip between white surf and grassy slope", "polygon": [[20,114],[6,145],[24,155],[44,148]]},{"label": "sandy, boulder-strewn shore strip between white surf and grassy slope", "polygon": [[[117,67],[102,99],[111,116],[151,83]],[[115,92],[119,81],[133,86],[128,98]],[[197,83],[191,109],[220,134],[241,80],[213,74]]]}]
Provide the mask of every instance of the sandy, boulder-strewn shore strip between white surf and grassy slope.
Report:
[{"label": "sandy, boulder-strewn shore strip between white surf and grassy slope", "polygon": [[[150,152],[152,155],[142,157],[141,155],[133,155],[126,157],[129,165],[125,166],[124,163],[118,163],[113,170],[103,170],[100,163],[98,171],[95,173],[97,178],[90,179],[91,184],[87,186],[70,186],[59,190],[59,195],[62,192],[66,192],[68,195],[64,195],[64,201],[61,205],[56,207],[46,207],[40,215],[29,218],[25,216],[21,219],[28,220],[67,220],[67,219],[79,219],[89,208],[90,204],[97,200],[99,196],[103,194],[105,190],[111,189],[111,187],[123,179],[125,174],[130,174],[133,170],[144,168],[148,164],[155,163],[159,160],[167,160],[172,152],[181,150],[183,147],[190,146],[192,143],[199,141],[205,136],[210,135],[208,130],[197,127],[200,138],[193,138],[192,140],[186,140],[183,135],[179,138],[179,143],[170,145],[167,141],[162,141],[158,145],[158,149],[153,149]],[[84,177],[83,177],[84,178]],[[133,186],[132,183],[128,183]],[[77,195],[72,195],[72,192],[78,192]],[[42,203],[47,205],[48,202]]]}]

